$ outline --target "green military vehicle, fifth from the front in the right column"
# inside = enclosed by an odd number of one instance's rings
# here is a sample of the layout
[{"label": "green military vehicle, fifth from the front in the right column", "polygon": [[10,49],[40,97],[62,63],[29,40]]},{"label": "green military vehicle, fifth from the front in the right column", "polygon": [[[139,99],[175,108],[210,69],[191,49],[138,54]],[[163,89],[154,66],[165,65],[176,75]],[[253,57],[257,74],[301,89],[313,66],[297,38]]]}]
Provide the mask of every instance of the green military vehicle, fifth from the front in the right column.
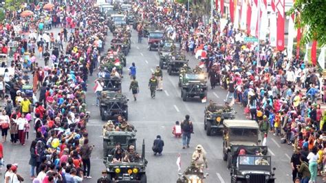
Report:
[{"label": "green military vehicle, fifth from the front in the right column", "polygon": [[180,69],[185,64],[188,64],[188,60],[186,60],[186,56],[184,56],[181,52],[173,52],[168,60],[168,74],[171,76],[172,74],[180,74]]}]

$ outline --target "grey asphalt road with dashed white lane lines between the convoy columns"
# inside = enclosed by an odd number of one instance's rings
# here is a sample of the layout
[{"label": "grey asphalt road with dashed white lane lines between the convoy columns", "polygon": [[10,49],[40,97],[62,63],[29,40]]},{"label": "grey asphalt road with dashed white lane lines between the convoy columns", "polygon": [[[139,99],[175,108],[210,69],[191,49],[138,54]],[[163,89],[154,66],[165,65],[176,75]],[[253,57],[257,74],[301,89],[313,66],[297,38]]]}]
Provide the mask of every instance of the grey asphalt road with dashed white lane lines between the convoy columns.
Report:
[{"label": "grey asphalt road with dashed white lane lines between the convoy columns", "polygon": [[[57,33],[59,30],[54,29],[52,32]],[[107,38],[107,45],[111,34]],[[180,88],[177,86],[177,76],[169,76],[164,70],[163,72],[163,88],[162,92],[156,93],[156,98],[150,97],[148,82],[151,72],[159,63],[159,56],[156,51],[147,50],[146,39],[142,43],[137,43],[138,38],[135,30],[132,32],[131,52],[127,56],[127,67],[124,67],[124,78],[122,80],[122,93],[126,94],[129,101],[129,122],[135,125],[138,138],[138,147],[141,147],[142,140],[146,144],[146,159],[149,161],[146,174],[149,183],[166,182],[172,183],[177,180],[177,155],[180,153],[182,160],[182,171],[186,169],[191,162],[191,155],[195,151],[197,144],[202,144],[207,152],[208,169],[205,173],[209,176],[205,182],[230,182],[230,171],[226,169],[226,162],[222,160],[222,138],[221,136],[206,136],[204,131],[204,107],[206,103],[201,103],[199,99],[183,102],[180,98]],[[191,67],[197,64],[194,56],[186,55]],[[134,62],[137,67],[137,80],[140,85],[140,94],[138,100],[132,100],[132,94],[129,92],[130,78],[127,75],[127,68]],[[43,59],[40,60],[43,65]],[[96,72],[98,72],[96,70]],[[102,125],[104,122],[100,120],[100,111],[94,105],[96,96],[92,90],[96,74],[89,77],[87,91],[87,109],[91,111],[91,118],[87,125],[89,132],[90,144],[95,145],[95,149],[91,154],[91,176],[93,179],[85,180],[85,182],[96,182],[100,177],[100,172],[105,169],[102,163]],[[208,83],[209,84],[209,83]],[[226,91],[219,87],[208,90],[207,100],[214,100],[218,104],[223,104],[226,97]],[[237,111],[237,119],[245,119],[243,109],[239,105],[234,106]],[[191,136],[191,144],[189,149],[182,149],[182,140],[176,139],[171,133],[171,129],[176,120],[183,120],[184,116],[189,114],[194,124],[194,134]],[[30,159],[29,147],[30,142],[34,139],[35,133],[30,132],[30,139],[27,140],[27,146],[12,145],[10,142],[4,144],[6,163],[18,163],[19,173],[25,177],[26,182],[30,182]],[[151,147],[153,140],[157,135],[162,136],[165,146],[162,156],[154,156]],[[287,144],[280,144],[279,138],[275,138],[270,134],[268,136],[269,154],[272,155],[272,166],[276,167],[276,182],[290,182],[292,180],[292,171],[290,168],[290,156],[292,148]],[[140,150],[140,149],[138,149]],[[3,176],[1,176],[3,180]],[[1,181],[0,181],[1,182]]]}]

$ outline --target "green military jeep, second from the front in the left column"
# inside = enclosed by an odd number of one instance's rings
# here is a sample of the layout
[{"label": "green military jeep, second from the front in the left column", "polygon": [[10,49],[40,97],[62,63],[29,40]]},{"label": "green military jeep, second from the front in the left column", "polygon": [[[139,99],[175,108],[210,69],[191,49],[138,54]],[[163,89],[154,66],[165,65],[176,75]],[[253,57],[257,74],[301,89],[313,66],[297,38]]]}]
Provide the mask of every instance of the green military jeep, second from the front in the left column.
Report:
[{"label": "green military jeep, second from the front in the left column", "polygon": [[122,149],[128,149],[130,145],[136,148],[135,142],[136,131],[105,131],[103,136],[103,156],[107,158],[116,147],[117,143],[121,144]]}]

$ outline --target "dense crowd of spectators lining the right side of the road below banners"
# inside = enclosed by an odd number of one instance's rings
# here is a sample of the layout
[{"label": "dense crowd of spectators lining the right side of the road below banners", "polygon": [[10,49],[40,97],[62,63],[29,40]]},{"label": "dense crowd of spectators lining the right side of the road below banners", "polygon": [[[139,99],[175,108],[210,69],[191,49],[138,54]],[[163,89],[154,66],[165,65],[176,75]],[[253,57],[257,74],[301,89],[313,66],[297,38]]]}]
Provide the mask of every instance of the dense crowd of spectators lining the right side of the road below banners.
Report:
[{"label": "dense crowd of spectators lining the right side of the road below banners", "polygon": [[[225,101],[243,105],[244,114],[259,122],[262,136],[279,136],[281,142],[302,149],[305,160],[310,158],[310,180],[316,182],[315,163],[320,174],[326,162],[326,111],[320,107],[326,99],[326,80],[316,65],[287,57],[268,40],[261,41],[258,50],[257,44],[243,41],[248,35],[233,28],[230,21],[221,27],[219,14],[215,14],[213,30],[180,4],[146,6],[142,16],[164,28],[166,36],[180,42],[184,52],[206,51],[200,62],[206,65],[212,89],[215,85],[226,89]],[[317,159],[305,153],[316,154],[317,150]],[[292,170],[293,180],[302,177],[295,166]]]}]

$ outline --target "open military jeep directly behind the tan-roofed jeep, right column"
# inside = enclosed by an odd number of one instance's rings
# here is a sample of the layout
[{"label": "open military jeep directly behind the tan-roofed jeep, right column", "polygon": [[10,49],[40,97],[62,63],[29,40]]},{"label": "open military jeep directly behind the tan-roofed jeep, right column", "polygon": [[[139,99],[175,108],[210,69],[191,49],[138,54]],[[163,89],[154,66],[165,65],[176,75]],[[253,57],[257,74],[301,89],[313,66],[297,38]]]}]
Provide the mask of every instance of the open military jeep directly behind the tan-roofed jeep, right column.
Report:
[{"label": "open military jeep directly behind the tan-roofed jeep, right column", "polygon": [[205,107],[204,110],[204,129],[206,130],[206,135],[215,135],[219,131],[223,131],[224,129],[224,120],[234,119],[235,118],[235,110],[231,107],[227,107],[226,105],[217,105],[213,103],[215,111],[210,111],[208,107]]}]

